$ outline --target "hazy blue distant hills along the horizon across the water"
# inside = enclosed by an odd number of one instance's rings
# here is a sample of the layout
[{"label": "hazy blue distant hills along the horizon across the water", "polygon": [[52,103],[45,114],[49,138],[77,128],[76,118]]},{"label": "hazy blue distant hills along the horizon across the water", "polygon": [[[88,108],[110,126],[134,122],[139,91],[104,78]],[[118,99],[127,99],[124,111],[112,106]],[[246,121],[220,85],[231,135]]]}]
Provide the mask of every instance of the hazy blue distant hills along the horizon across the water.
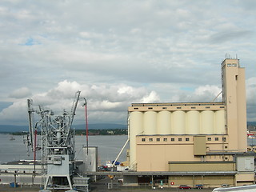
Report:
[{"label": "hazy blue distant hills along the horizon across the water", "polygon": [[[76,130],[85,130],[86,125],[73,125]],[[110,129],[127,129],[126,125],[114,123],[92,123],[88,124],[90,130],[110,130]],[[29,126],[13,126],[13,125],[0,125],[0,133],[13,133],[28,131]]]}]

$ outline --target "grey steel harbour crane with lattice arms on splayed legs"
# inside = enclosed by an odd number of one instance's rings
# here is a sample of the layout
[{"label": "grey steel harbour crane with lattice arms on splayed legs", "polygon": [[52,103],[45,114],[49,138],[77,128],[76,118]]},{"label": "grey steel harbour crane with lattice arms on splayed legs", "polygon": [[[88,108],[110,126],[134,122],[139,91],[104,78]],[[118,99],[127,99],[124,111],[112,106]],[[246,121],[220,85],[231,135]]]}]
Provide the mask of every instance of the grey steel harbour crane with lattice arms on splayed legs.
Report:
[{"label": "grey steel harbour crane with lattice arms on splayed legs", "polygon": [[[70,112],[63,110],[62,115],[54,115],[52,110],[38,110],[32,108],[32,99],[28,99],[28,116],[30,134],[26,143],[34,152],[41,150],[42,174],[46,175],[44,189],[72,190],[74,175],[74,130],[71,129],[75,111],[78,106],[80,91],[75,94]],[[39,120],[34,123],[34,114]],[[37,134],[40,142],[37,143]]]}]

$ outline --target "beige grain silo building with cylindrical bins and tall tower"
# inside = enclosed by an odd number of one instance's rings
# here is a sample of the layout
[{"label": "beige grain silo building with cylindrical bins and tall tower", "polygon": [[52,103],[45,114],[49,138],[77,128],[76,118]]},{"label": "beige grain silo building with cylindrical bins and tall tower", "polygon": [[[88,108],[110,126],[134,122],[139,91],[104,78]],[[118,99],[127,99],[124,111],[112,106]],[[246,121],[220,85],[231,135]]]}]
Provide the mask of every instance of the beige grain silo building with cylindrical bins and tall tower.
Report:
[{"label": "beige grain silo building with cylindrical bins and tall tower", "polygon": [[[133,103],[129,108],[127,182],[163,185],[254,184],[254,155],[247,154],[245,68],[222,64],[222,102]],[[153,174],[152,174],[153,175]],[[129,181],[130,180],[130,181]],[[125,181],[124,181],[125,182]]]}]

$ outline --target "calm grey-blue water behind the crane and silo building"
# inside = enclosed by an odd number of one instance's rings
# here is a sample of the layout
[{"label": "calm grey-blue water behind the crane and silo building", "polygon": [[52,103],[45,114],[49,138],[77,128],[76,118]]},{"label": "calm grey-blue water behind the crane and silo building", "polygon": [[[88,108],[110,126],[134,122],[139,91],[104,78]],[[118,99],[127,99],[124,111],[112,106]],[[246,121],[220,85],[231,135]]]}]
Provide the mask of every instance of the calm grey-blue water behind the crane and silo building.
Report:
[{"label": "calm grey-blue water behind the crane and silo building", "polygon": [[[0,163],[16,161],[20,159],[33,159],[33,154],[30,150],[30,156],[27,155],[26,145],[23,144],[22,136],[13,136],[15,140],[10,140],[9,134],[0,134]],[[89,146],[98,146],[99,162],[105,164],[106,161],[114,160],[122,146],[127,140],[127,135],[99,135],[89,136]],[[255,142],[256,143],[256,142]],[[82,146],[86,145],[86,136],[75,137],[75,149],[77,159],[82,159]],[[126,146],[128,149],[128,144]],[[126,149],[118,159],[119,162],[126,161]],[[40,156],[40,152],[37,154]]]}]

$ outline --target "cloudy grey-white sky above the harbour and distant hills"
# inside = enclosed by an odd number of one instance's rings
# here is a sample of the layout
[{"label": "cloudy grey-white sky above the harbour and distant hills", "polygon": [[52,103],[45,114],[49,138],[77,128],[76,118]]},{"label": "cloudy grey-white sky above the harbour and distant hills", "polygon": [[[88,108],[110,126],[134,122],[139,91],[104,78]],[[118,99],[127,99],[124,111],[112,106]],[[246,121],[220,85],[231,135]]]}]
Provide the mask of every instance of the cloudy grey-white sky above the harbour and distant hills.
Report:
[{"label": "cloudy grey-white sky above the harbour and distant hills", "polygon": [[[211,102],[221,63],[246,68],[256,121],[256,1],[0,2],[0,124],[27,125],[28,98],[57,113],[81,90],[89,123],[126,124],[133,102]],[[216,101],[222,101],[221,96]],[[85,123],[83,100],[74,123]]]}]

